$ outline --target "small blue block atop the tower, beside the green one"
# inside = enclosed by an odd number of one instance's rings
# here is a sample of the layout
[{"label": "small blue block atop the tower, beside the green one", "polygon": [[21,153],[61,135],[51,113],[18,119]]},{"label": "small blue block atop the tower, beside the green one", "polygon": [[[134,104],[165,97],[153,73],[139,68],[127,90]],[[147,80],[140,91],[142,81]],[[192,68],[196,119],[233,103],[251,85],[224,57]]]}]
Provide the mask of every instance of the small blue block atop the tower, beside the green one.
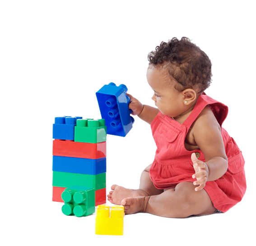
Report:
[{"label": "small blue block atop the tower, beside the green one", "polygon": [[74,140],[75,117],[56,117],[52,125],[52,138]]}]

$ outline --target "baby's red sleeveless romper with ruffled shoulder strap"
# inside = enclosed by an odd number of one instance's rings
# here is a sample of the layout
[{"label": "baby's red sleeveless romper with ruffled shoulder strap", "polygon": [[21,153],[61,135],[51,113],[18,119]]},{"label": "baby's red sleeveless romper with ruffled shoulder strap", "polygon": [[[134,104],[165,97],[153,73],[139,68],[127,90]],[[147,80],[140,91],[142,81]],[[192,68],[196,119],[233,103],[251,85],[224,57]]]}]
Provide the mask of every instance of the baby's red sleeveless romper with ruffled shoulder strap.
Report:
[{"label": "baby's red sleeveless romper with ruffled shoulder strap", "polygon": [[204,189],[214,207],[225,213],[240,202],[246,192],[245,161],[237,143],[222,127],[228,115],[228,107],[206,96],[205,93],[198,98],[194,109],[183,124],[161,112],[154,118],[151,129],[157,150],[149,175],[158,189],[173,187],[180,182],[196,181],[196,178],[192,178],[195,169],[191,154],[196,153],[197,158],[204,162],[205,156],[201,150],[186,150],[184,142],[191,124],[206,105],[212,109],[221,126],[221,135],[228,157],[228,170],[221,178],[207,181]]}]

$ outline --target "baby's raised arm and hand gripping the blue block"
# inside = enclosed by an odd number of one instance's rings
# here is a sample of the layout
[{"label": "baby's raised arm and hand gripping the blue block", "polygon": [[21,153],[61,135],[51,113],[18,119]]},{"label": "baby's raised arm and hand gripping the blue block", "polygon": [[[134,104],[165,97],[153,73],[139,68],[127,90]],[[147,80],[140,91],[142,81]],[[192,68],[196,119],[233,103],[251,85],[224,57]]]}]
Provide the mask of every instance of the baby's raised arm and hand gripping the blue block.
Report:
[{"label": "baby's raised arm and hand gripping the blue block", "polygon": [[157,116],[159,110],[149,105],[143,105],[139,100],[130,94],[126,95],[130,97],[129,109],[132,110],[132,114],[137,115],[145,122],[151,124],[153,119]]}]

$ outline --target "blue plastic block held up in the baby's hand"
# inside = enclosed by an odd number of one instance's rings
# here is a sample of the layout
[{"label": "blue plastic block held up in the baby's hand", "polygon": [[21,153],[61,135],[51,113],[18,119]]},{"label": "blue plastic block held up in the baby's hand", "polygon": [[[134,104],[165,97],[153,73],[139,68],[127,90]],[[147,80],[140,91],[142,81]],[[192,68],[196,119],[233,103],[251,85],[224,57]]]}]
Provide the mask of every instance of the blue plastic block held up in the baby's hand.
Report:
[{"label": "blue plastic block held up in the baby's hand", "polygon": [[107,134],[125,137],[132,128],[134,118],[128,108],[130,97],[125,85],[109,83],[96,92],[101,117],[105,119]]}]

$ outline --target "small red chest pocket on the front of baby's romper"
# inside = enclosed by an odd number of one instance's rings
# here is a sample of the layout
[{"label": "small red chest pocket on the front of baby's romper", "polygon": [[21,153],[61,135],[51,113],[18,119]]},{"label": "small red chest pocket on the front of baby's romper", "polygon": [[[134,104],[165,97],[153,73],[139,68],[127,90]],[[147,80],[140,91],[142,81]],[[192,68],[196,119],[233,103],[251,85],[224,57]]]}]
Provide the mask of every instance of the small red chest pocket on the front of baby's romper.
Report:
[{"label": "small red chest pocket on the front of baby's romper", "polygon": [[172,127],[170,124],[162,121],[158,125],[156,134],[163,140],[171,143],[176,140],[179,135],[179,131],[176,128]]}]

